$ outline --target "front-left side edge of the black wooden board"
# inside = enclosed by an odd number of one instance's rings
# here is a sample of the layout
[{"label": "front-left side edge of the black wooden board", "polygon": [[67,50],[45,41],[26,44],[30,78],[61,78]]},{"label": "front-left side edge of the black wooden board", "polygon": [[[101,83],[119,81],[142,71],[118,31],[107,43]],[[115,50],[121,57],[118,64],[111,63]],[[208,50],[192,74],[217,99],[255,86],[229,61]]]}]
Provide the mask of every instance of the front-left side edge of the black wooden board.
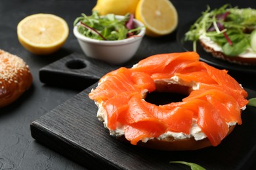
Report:
[{"label": "front-left side edge of the black wooden board", "polygon": [[[62,154],[62,156],[89,169],[120,169],[120,167],[114,163],[96,155],[90,150],[85,150],[85,148],[81,149],[77,144],[72,143],[72,141],[68,141],[68,139],[60,137],[60,135],[54,135],[54,133],[51,133],[50,129],[41,126],[38,121],[39,120],[35,120],[30,124],[30,131],[33,139],[43,144],[43,146],[47,146],[47,148],[54,150],[54,152]],[[60,146],[59,143],[62,143],[62,146]],[[63,148],[67,148],[68,152],[65,152],[66,150]],[[73,156],[74,154],[76,156]],[[86,160],[83,159],[85,156]],[[81,159],[75,160],[74,158],[77,157]]]}]

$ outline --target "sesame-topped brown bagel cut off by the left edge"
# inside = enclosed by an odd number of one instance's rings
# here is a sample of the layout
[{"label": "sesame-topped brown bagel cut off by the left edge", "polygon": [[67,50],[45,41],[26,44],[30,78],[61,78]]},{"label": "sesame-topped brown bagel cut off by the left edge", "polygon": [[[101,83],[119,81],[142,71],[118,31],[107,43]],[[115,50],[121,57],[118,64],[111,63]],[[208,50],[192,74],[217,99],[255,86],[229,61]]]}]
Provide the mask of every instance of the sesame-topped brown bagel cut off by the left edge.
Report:
[{"label": "sesame-topped brown bagel cut off by the left edge", "polygon": [[0,50],[0,108],[14,102],[32,84],[32,74],[23,59]]}]

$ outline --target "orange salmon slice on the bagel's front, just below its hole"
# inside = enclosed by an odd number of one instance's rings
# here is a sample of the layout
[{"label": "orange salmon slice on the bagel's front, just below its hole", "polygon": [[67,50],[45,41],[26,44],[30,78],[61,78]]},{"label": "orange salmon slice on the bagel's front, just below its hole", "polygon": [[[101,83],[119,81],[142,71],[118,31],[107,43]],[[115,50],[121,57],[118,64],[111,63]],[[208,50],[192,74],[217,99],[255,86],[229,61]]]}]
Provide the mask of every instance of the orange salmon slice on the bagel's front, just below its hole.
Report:
[{"label": "orange salmon slice on the bagel's front, just below its hole", "polygon": [[123,114],[127,120],[125,137],[131,139],[133,144],[137,144],[139,139],[159,137],[167,131],[189,134],[193,116],[190,110],[181,107],[173,110],[161,109],[139,97],[131,98],[129,108]]}]

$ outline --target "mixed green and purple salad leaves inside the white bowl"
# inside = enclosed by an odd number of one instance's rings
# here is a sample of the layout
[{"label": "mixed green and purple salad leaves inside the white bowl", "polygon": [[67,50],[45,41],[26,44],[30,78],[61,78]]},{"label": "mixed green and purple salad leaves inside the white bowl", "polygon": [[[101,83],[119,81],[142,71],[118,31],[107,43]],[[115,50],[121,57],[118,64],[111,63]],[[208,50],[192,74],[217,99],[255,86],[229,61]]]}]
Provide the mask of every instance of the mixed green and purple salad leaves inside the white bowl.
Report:
[{"label": "mixed green and purple salad leaves inside the white bowl", "polygon": [[94,11],[91,16],[81,14],[75,18],[74,26],[77,25],[79,33],[91,39],[116,41],[139,33],[141,27],[135,28],[132,19],[133,15],[129,13],[123,19],[117,20],[114,14],[99,16]]}]

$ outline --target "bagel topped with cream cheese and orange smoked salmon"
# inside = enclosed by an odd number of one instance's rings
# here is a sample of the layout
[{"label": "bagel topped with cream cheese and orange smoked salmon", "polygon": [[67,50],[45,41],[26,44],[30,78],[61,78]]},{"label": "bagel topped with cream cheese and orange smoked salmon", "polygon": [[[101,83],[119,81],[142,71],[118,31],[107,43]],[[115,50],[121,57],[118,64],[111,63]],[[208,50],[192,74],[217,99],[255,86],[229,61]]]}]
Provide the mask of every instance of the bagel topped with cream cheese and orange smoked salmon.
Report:
[{"label": "bagel topped with cream cheese and orange smoked salmon", "polygon": [[[187,95],[165,105],[148,103],[147,93]],[[225,70],[196,52],[157,54],[128,69],[121,67],[89,93],[97,117],[121,141],[158,150],[197,150],[217,146],[242,124],[247,92]]]}]

